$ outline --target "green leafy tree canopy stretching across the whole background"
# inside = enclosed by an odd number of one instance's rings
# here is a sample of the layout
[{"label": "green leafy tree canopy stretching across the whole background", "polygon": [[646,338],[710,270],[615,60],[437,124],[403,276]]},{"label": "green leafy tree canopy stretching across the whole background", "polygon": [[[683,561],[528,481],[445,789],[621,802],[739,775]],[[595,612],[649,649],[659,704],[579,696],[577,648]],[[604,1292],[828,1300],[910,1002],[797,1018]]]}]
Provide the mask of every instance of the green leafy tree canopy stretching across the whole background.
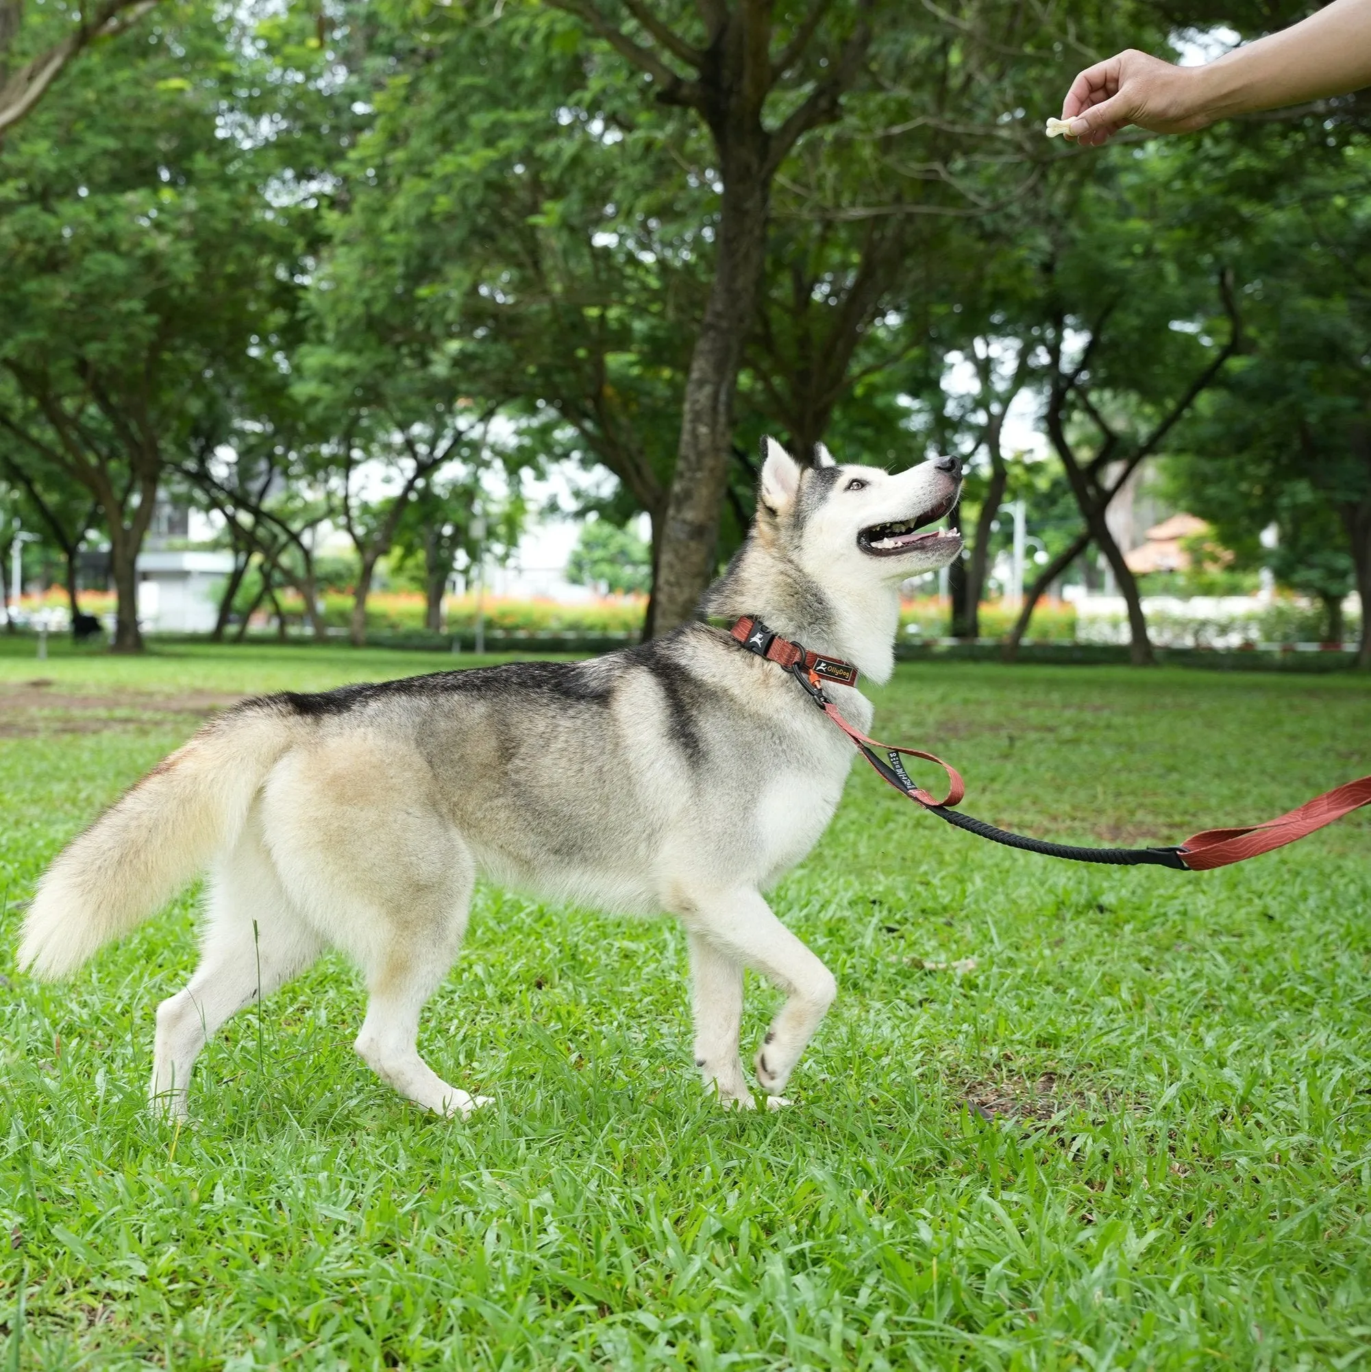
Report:
[{"label": "green leafy tree canopy stretching across the whole background", "polygon": [[[692,5],[658,11],[698,36]],[[1294,14],[1230,11],[1245,36]],[[632,11],[605,12],[636,32]],[[857,14],[823,10],[768,121]],[[30,5],[25,51],[66,15]],[[801,22],[773,18],[776,43]],[[1069,372],[1089,343],[1065,428],[1111,469],[1226,343],[1227,273],[1245,351],[1164,445],[1190,472],[1183,504],[1239,553],[1233,578],[1264,563],[1330,620],[1359,556],[1371,587],[1356,108],[1090,155],[1041,137],[1082,52],[1164,54],[1182,19],[1215,16],[1078,5],[1068,41],[1002,0],[871,8],[869,62],[772,191],[721,554],[764,432],[893,468],[957,451],[969,530],[998,498],[994,405],[949,377],[978,350],[1001,383],[1023,357],[1042,409],[1052,350]],[[329,520],[356,539],[355,590],[384,565],[432,601],[472,556],[461,493],[492,468],[483,488],[513,491],[570,461],[581,512],[659,528],[720,172],[698,117],[648,86],[551,5],[215,18],[165,0],[82,54],[0,154],[0,468],[22,460],[71,531],[99,495],[96,536],[130,545],[130,480],[155,477],[229,512],[237,546],[302,595],[318,589],[308,531]],[[1058,552],[1080,524],[1060,468],[1008,457],[1004,498],[1026,497]],[[1281,539],[1261,553],[1268,523]]]}]

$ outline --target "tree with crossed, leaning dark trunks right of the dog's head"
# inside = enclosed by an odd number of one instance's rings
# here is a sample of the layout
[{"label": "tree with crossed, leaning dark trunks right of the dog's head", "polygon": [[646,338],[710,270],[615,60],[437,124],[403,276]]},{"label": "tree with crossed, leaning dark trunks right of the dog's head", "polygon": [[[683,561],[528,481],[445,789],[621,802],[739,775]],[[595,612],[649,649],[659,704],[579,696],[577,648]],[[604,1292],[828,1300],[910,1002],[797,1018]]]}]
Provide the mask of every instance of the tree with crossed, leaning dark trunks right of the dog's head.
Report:
[{"label": "tree with crossed, leaning dark trunks right of the dog's head", "polygon": [[1185,145],[1130,150],[1090,181],[1063,181],[1041,207],[1043,424],[1083,527],[1028,589],[1009,656],[1041,594],[1094,545],[1127,606],[1131,660],[1153,660],[1106,512],[1243,347],[1227,244],[1191,221],[1176,191],[1190,156]]}]

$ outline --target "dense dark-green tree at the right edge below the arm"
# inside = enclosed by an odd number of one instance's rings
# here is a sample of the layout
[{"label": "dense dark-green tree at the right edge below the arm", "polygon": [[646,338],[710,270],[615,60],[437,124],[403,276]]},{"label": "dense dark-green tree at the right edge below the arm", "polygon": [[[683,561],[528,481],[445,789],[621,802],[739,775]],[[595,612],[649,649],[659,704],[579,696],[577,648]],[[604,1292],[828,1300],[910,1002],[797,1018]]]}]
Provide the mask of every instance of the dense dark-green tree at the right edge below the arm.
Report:
[{"label": "dense dark-green tree at the right edge below the arm", "polygon": [[1278,525],[1264,560],[1324,601],[1330,631],[1349,558],[1357,663],[1371,668],[1371,144],[1312,111],[1231,129],[1194,151],[1180,191],[1248,279],[1249,346],[1186,427],[1174,471],[1239,550]]}]

